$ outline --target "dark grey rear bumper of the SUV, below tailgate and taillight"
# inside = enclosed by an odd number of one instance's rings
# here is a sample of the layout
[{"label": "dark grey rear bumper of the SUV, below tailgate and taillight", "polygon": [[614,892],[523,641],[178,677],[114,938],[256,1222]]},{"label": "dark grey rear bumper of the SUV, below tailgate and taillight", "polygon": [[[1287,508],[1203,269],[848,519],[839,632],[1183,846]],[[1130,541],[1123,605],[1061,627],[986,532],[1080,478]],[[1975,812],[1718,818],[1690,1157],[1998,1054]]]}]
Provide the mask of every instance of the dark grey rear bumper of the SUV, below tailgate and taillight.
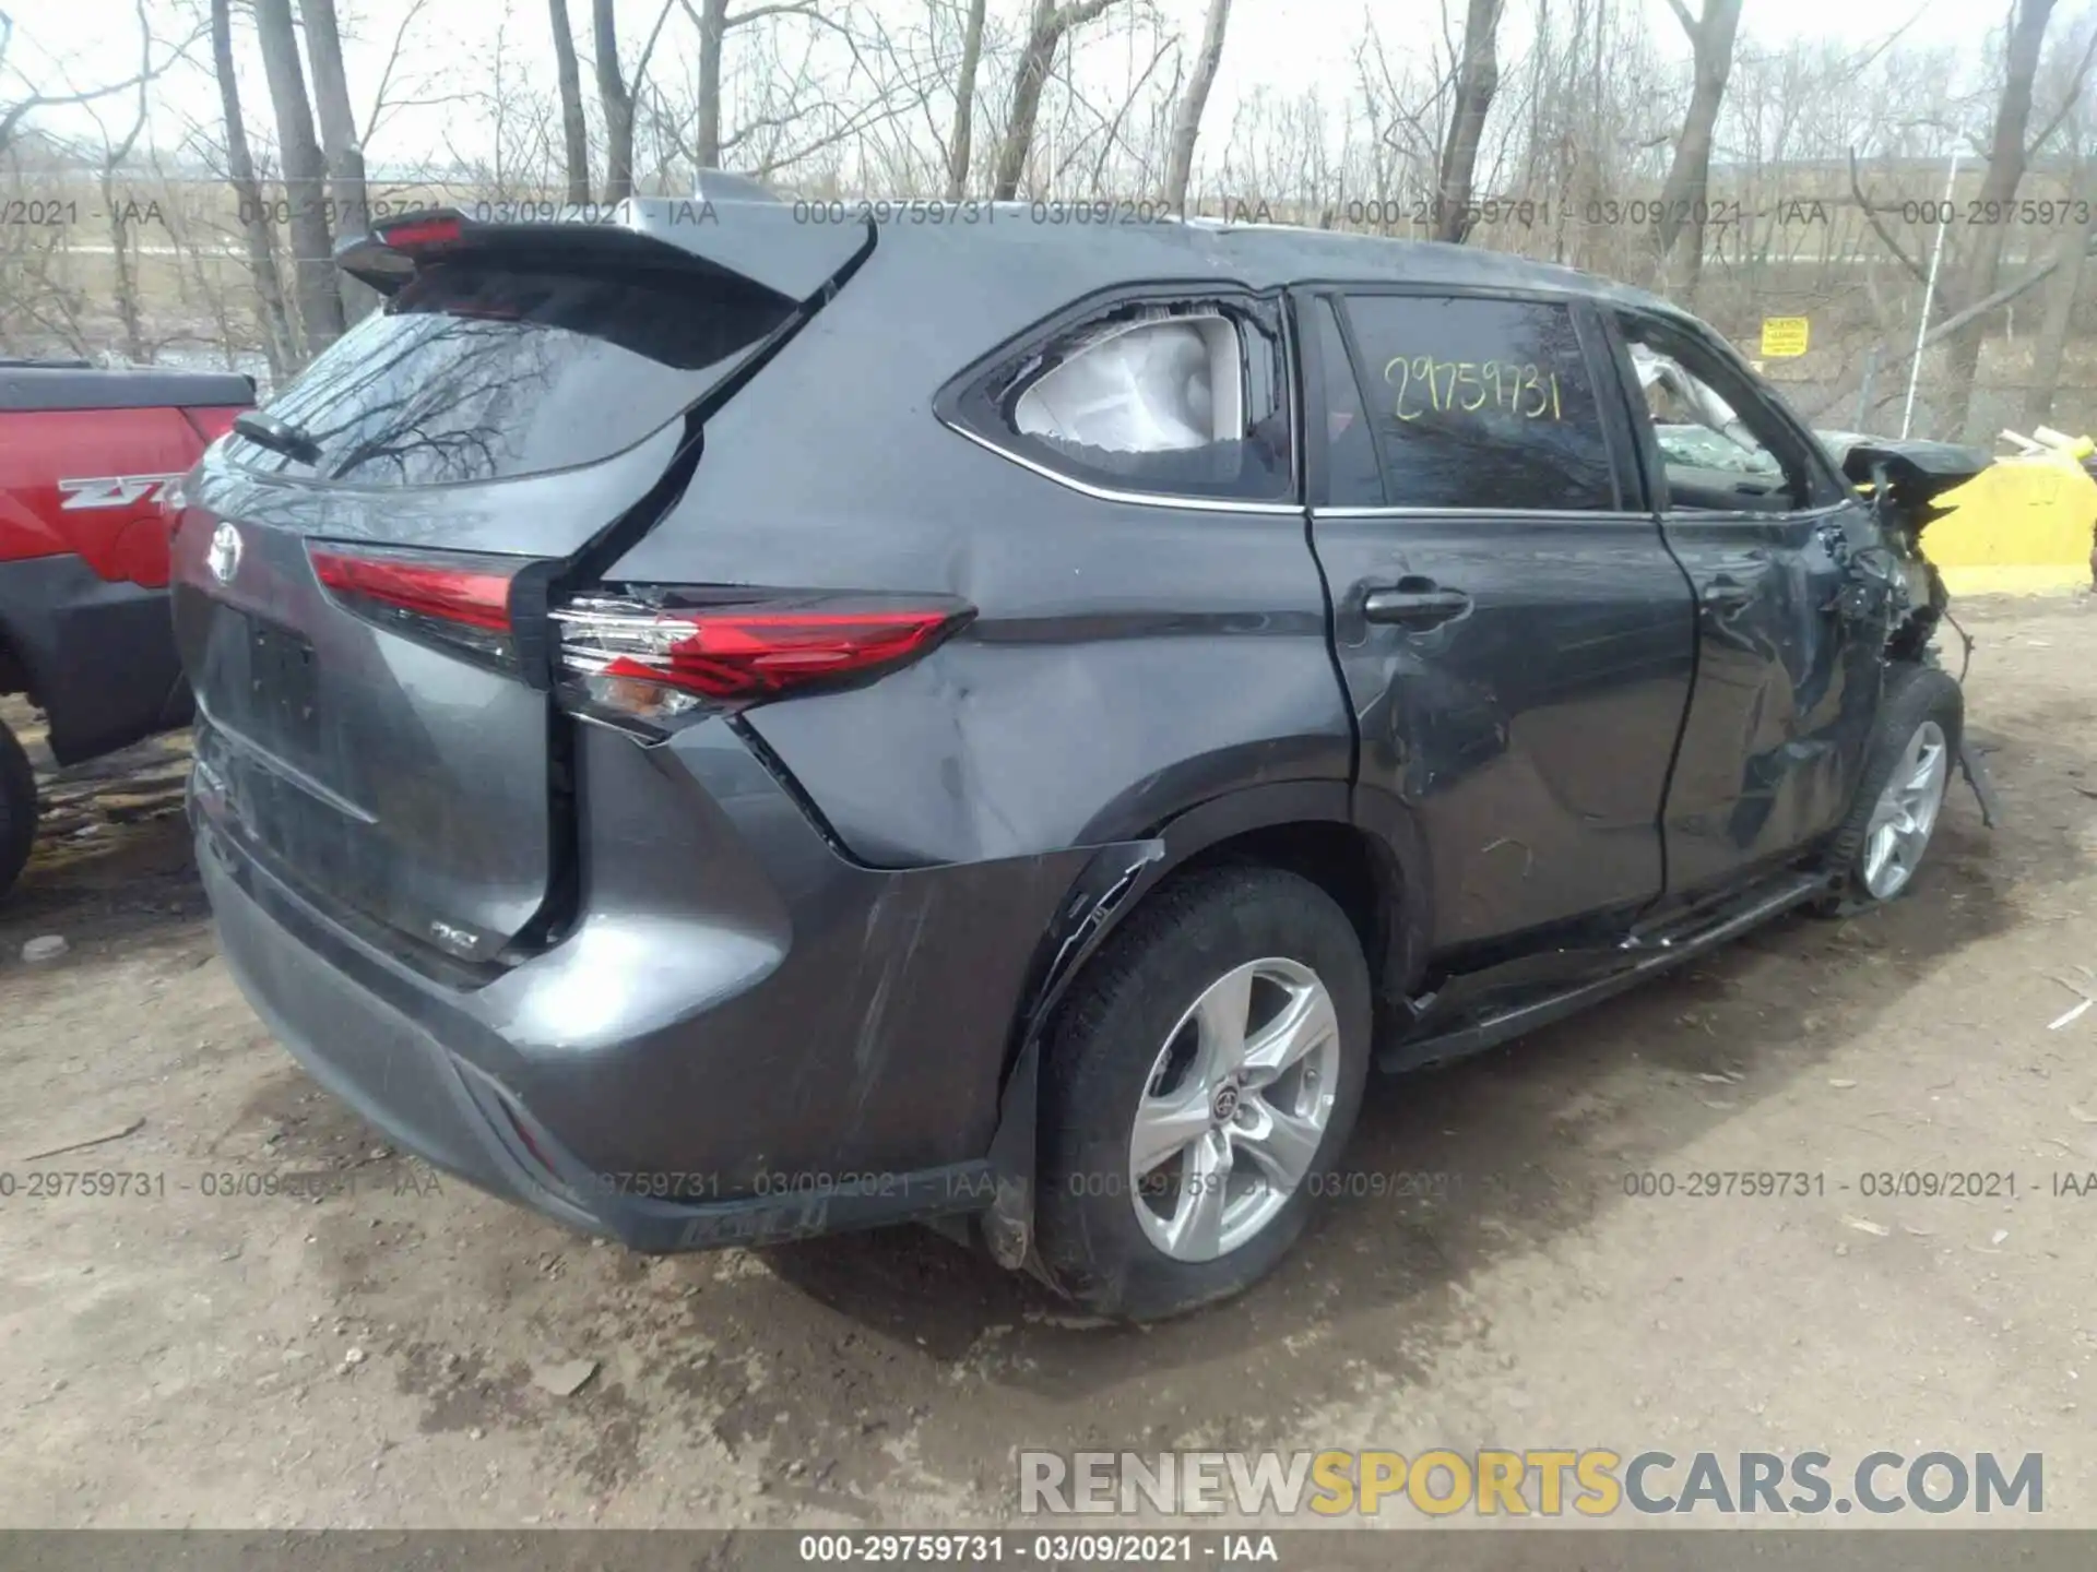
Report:
[{"label": "dark grey rear bumper of the SUV, below tailgate and taillight", "polygon": [[[640,859],[585,826],[572,937],[470,989],[331,920],[193,790],[220,947],[294,1058],[398,1147],[635,1249],[986,1207],[1013,1021],[1090,853],[864,870],[732,734],[587,746],[589,824],[686,769],[732,769],[694,796],[728,809],[648,817]],[[726,864],[751,836],[768,855]]]}]

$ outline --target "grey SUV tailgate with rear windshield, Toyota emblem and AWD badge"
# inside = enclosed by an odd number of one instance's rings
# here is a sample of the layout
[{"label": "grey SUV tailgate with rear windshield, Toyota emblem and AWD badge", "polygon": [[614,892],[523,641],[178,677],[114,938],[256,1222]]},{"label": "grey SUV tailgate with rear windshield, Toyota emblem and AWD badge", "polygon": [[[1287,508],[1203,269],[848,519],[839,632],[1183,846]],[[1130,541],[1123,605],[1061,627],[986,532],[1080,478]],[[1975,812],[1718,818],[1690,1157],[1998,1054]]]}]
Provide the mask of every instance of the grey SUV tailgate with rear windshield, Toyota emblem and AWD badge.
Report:
[{"label": "grey SUV tailgate with rear windshield, Toyota emblem and AWD badge", "polygon": [[547,587],[646,528],[688,413],[797,310],[617,231],[417,258],[264,411],[275,438],[195,476],[174,614],[203,811],[342,916],[466,960],[520,935],[566,790]]}]

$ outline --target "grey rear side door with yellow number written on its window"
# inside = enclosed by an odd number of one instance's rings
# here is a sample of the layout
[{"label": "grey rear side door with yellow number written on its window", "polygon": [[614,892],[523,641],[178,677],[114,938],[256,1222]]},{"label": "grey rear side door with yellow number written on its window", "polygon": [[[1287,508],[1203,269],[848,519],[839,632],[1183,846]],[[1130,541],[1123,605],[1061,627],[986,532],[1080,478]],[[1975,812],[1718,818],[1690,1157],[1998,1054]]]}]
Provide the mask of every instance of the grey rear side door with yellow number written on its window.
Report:
[{"label": "grey rear side door with yellow number written on its window", "polygon": [[1357,790],[1424,830],[1434,947],[1652,901],[1694,627],[1598,321],[1447,289],[1298,310]]}]

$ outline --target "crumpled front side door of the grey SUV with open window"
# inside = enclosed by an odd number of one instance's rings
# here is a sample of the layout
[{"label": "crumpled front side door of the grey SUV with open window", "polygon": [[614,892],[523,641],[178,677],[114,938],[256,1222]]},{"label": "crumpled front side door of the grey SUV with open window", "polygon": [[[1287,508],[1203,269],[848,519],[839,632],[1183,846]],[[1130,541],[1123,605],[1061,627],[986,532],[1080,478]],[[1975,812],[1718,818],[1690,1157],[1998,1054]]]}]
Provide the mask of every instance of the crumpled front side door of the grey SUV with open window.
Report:
[{"label": "crumpled front side door of the grey SUV with open window", "polygon": [[1776,866],[1850,805],[1883,627],[1845,620],[1866,509],[1738,356],[1615,312],[1613,352],[1667,547],[1696,591],[1696,690],[1667,794],[1671,891]]}]

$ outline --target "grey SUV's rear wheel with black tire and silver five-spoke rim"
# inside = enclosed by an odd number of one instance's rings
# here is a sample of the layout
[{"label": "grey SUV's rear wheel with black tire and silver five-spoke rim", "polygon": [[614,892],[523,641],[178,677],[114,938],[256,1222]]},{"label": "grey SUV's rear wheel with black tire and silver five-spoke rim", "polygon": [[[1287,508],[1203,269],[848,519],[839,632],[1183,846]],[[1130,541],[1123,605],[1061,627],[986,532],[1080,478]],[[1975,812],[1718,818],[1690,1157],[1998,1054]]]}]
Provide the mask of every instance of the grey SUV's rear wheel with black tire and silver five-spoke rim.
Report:
[{"label": "grey SUV's rear wheel with black tire and silver five-spoke rim", "polygon": [[1369,968],[1311,880],[1204,870],[1107,941],[1046,1048],[1042,1264],[1086,1310],[1158,1320],[1239,1293],[1302,1235],[1361,1111]]}]

